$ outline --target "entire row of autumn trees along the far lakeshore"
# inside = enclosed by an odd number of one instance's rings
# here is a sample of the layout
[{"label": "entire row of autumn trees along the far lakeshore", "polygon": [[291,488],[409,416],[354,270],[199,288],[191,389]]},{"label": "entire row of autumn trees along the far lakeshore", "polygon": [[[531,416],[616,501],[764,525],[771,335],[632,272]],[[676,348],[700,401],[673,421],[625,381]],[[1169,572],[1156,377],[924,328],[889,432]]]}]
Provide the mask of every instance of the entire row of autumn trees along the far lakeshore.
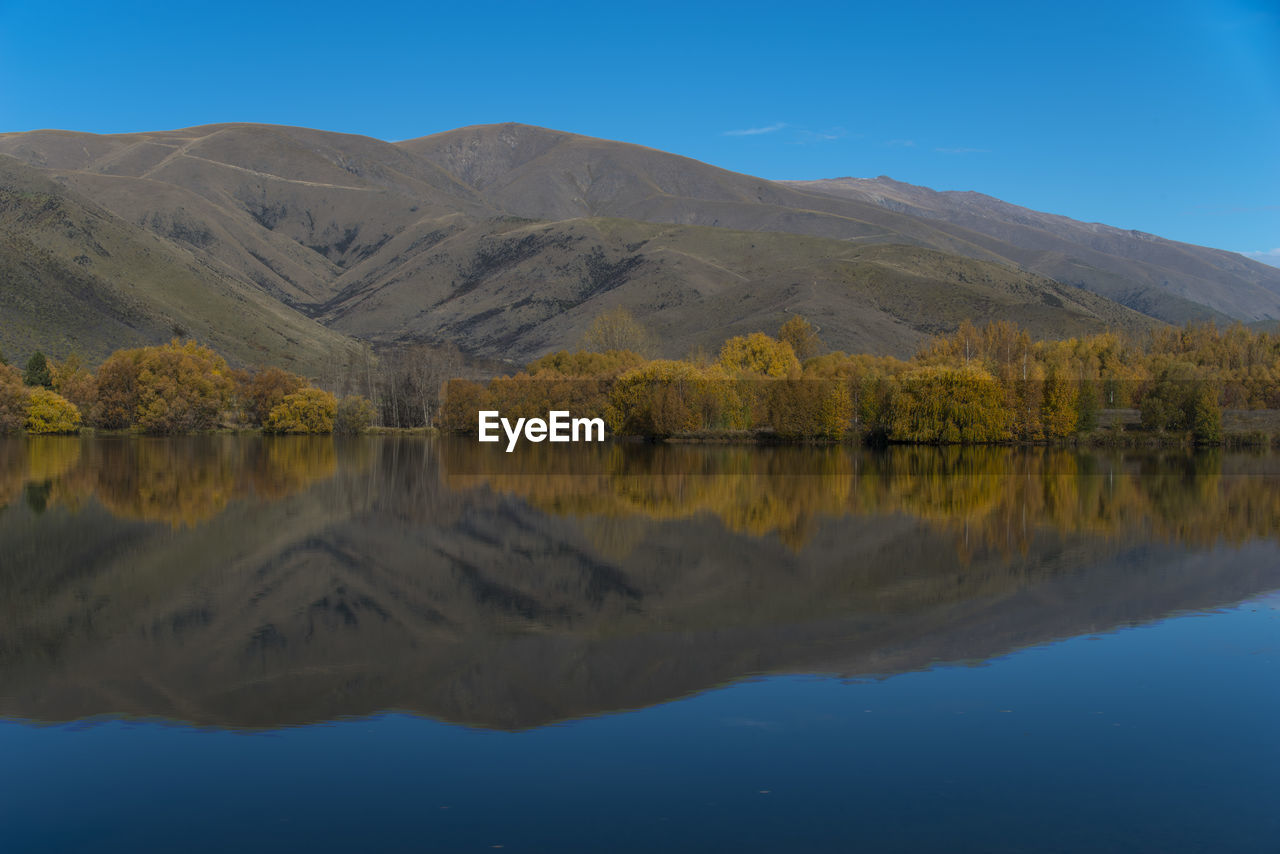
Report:
[{"label": "entire row of autumn trees along the far lakeshore", "polygon": [[0,433],[358,433],[375,423],[475,431],[480,410],[568,410],[646,438],[1052,443],[1096,438],[1103,410],[1132,410],[1146,433],[1216,444],[1224,408],[1280,408],[1280,335],[1240,324],[1033,341],[1012,323],[966,321],[902,360],[829,352],[792,316],[773,335],[728,338],[714,356],[653,351],[625,310],[598,318],[581,350],[485,382],[451,379],[465,360],[449,344],[366,348],[362,365],[333,378],[340,399],[278,367],[229,367],[192,341],[120,350],[92,371],[37,352],[20,371],[0,357]]}]

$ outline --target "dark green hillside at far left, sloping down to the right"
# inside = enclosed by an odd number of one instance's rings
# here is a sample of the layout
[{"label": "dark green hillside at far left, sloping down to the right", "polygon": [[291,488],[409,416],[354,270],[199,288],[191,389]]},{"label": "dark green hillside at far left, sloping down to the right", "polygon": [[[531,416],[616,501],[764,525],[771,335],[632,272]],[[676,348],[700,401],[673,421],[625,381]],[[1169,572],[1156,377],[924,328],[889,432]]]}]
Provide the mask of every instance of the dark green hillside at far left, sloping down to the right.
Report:
[{"label": "dark green hillside at far left, sloping down to the right", "polygon": [[0,348],[99,359],[192,335],[242,364],[316,374],[353,342],[197,254],[0,157]]}]

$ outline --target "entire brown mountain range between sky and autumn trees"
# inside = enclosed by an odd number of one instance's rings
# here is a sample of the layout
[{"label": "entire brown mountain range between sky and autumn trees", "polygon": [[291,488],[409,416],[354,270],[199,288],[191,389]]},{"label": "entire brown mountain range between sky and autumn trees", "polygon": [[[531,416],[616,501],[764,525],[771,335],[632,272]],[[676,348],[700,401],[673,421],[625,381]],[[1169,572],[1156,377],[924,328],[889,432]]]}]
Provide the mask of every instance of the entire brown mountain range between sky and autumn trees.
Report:
[{"label": "entire brown mountain range between sky and autumn trees", "polygon": [[177,334],[312,375],[361,342],[520,364],[618,306],[667,356],[792,312],[835,348],[905,356],[964,319],[1274,321],[1280,269],[978,193],[767,181],[521,124],[0,134],[0,351],[19,357]]}]

